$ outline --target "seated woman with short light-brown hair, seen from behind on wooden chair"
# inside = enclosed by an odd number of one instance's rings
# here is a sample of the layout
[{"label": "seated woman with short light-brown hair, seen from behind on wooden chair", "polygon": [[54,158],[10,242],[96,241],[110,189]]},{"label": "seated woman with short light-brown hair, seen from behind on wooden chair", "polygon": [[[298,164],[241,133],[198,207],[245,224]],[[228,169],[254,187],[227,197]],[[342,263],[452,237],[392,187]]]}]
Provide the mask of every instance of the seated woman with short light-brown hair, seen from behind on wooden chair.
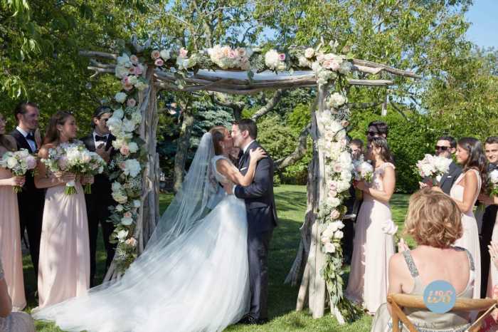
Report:
[{"label": "seated woman with short light-brown hair, seen from behind on wooden chair", "polygon": [[[447,195],[423,189],[410,197],[405,231],[417,247],[409,250],[401,240],[398,254],[391,257],[388,267],[388,294],[423,296],[425,286],[436,280],[448,281],[457,291],[457,298],[472,299],[475,266],[469,251],[454,247],[462,237],[461,213]],[[418,331],[465,331],[468,313],[433,313],[428,310],[404,308]],[[373,320],[371,331],[390,331],[391,308],[383,304]],[[408,331],[403,326],[403,331]]]}]

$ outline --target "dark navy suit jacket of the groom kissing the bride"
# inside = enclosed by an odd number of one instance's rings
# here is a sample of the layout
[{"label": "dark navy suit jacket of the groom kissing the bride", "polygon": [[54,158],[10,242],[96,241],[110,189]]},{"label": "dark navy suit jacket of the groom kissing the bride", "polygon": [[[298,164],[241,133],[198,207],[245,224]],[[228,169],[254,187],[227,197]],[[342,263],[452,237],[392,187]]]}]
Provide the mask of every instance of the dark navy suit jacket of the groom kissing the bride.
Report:
[{"label": "dark navy suit jacket of the groom kissing the bride", "polygon": [[[258,142],[252,142],[240,157],[238,169],[245,175],[248,172],[249,151],[261,147]],[[249,234],[268,232],[277,226],[277,209],[273,196],[273,160],[268,156],[258,161],[253,183],[247,187],[235,187],[235,197],[245,200],[248,214]]]}]

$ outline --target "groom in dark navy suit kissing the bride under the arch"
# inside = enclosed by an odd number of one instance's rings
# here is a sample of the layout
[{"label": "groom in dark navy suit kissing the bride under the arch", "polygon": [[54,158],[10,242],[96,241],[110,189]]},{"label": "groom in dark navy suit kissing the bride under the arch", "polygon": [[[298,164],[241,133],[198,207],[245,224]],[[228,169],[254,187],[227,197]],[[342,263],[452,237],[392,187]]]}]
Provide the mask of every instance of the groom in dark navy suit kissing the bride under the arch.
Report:
[{"label": "groom in dark navy suit kissing the bride under the arch", "polygon": [[[233,145],[241,149],[238,169],[248,171],[249,151],[260,147],[256,138],[258,128],[253,120],[243,119],[232,126]],[[273,197],[273,160],[270,157],[258,161],[253,183],[248,187],[235,185],[235,197],[245,200],[248,215],[248,258],[250,282],[249,313],[239,323],[260,324],[268,318],[268,246],[273,227],[277,226],[277,210]]]}]

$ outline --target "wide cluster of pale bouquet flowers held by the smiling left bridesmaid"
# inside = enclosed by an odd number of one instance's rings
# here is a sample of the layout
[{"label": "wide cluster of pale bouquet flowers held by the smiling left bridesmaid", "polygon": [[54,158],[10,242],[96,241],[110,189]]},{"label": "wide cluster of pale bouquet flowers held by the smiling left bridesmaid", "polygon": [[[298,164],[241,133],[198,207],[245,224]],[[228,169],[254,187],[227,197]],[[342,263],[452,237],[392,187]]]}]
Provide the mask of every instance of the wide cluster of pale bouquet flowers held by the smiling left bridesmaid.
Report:
[{"label": "wide cluster of pale bouquet flowers held by the smiling left bridesmaid", "polygon": [[[95,152],[90,152],[82,142],[62,143],[48,150],[48,158],[41,162],[53,173],[69,172],[76,175],[95,175],[103,172],[105,161]],[[75,194],[75,182],[65,184],[65,194]],[[88,187],[87,187],[88,185]],[[85,193],[90,184],[85,185]]]}]

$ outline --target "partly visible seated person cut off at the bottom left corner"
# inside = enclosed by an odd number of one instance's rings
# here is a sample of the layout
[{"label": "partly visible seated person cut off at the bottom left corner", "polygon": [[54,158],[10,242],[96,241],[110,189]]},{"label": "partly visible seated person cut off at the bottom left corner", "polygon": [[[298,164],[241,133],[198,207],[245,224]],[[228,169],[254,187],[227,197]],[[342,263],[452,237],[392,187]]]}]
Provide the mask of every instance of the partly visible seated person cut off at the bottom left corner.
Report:
[{"label": "partly visible seated person cut off at the bottom left corner", "polygon": [[0,331],[34,332],[33,319],[25,312],[12,312],[12,301],[7,291],[4,269],[0,261]]}]

